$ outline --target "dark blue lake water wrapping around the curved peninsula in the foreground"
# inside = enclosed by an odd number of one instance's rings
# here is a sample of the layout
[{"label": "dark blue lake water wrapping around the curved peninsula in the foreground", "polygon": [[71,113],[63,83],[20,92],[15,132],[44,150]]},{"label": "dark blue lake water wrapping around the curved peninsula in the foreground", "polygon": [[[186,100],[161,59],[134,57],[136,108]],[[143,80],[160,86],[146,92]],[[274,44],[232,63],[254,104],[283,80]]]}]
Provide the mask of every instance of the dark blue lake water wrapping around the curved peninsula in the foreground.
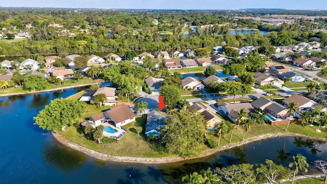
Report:
[{"label": "dark blue lake water wrapping around the curved peninsula in the foreground", "polygon": [[[83,89],[0,97],[1,183],[177,183],[186,173],[208,167],[239,163],[257,166],[266,158],[286,166],[288,163],[279,159],[281,154],[278,156],[278,151],[283,147],[289,155],[302,153],[308,158],[308,163],[315,159],[326,159],[326,143],[290,136],[255,142],[208,157],[172,164],[103,162],[62,146],[49,131],[33,125],[33,117],[51,100],[71,96]],[[309,171],[314,171],[312,165]]]}]

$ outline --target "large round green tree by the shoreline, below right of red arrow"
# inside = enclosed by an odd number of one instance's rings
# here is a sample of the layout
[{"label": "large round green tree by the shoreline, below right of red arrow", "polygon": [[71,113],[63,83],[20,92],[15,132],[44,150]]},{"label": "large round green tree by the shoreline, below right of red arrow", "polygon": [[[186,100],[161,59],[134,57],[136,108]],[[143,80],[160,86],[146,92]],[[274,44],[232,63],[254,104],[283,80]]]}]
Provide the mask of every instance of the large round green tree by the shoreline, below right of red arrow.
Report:
[{"label": "large round green tree by the shoreline, below right of red arrow", "polygon": [[196,150],[205,141],[206,123],[203,116],[180,110],[173,112],[164,123],[160,137],[166,150],[180,156],[196,155]]}]

